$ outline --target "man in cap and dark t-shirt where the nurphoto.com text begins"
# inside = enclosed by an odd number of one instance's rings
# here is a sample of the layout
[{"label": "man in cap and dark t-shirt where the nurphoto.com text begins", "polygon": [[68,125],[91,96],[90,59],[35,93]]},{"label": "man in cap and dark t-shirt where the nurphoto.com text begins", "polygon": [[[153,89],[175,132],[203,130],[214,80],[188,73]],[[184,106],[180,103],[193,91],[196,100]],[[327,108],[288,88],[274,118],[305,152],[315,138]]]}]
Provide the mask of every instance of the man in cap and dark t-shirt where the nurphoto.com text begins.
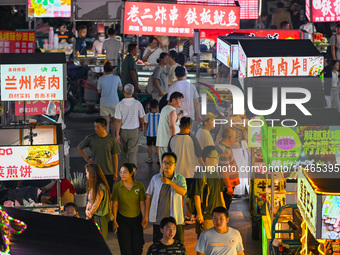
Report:
[{"label": "man in cap and dark t-shirt where the nurphoto.com text begins", "polygon": [[217,172],[219,155],[216,147],[205,147],[202,152],[202,158],[205,166],[200,167],[200,170],[196,171],[194,176],[197,238],[204,230],[214,227],[212,221],[213,209],[218,206],[225,207],[223,181]]}]

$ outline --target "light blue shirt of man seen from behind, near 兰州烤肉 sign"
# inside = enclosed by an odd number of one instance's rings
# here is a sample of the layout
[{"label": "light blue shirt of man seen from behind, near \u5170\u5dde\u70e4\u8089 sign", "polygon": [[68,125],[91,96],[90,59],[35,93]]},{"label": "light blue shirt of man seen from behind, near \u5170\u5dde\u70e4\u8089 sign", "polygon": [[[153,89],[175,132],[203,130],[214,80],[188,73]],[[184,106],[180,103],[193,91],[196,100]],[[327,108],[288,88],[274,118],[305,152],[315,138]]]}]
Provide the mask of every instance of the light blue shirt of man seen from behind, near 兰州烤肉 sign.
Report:
[{"label": "light blue shirt of man seen from behind, near \u5170\u5dde\u70e4\u8089 sign", "polygon": [[118,87],[122,86],[122,82],[118,75],[106,74],[99,78],[97,89],[101,90],[100,104],[112,105],[118,104]]}]

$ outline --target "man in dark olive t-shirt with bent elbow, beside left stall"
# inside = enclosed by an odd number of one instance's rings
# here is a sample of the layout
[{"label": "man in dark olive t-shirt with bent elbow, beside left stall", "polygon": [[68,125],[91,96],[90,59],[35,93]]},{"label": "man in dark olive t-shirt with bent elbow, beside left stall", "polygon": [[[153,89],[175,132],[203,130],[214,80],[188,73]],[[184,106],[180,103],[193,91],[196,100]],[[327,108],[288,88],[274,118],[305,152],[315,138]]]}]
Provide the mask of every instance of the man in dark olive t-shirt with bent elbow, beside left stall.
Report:
[{"label": "man in dark olive t-shirt with bent elbow, beside left stall", "polygon": [[[114,136],[106,132],[106,120],[98,118],[94,122],[95,133],[86,136],[77,149],[87,163],[96,163],[103,170],[110,189],[117,180],[118,153],[120,148]],[[86,147],[91,150],[91,157],[84,151]]]}]

